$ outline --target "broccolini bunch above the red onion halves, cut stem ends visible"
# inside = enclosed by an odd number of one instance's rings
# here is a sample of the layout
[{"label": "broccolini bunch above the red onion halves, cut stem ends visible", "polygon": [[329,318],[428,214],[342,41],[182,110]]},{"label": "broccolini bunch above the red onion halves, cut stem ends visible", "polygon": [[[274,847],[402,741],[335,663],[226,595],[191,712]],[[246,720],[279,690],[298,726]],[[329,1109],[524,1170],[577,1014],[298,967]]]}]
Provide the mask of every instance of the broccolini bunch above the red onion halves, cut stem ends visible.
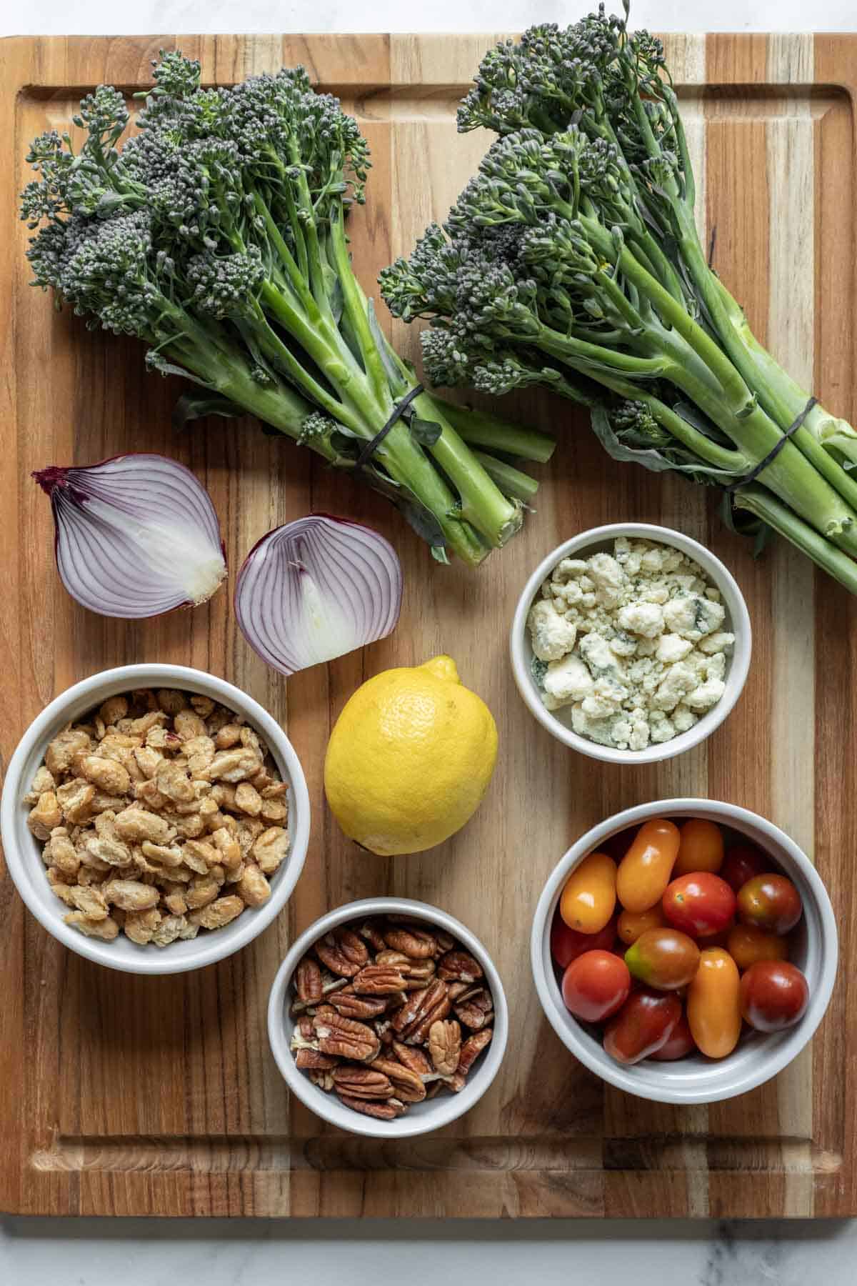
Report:
[{"label": "broccolini bunch above the red onion halves, cut stem ends visible", "polygon": [[251,412],[388,495],[439,559],[479,562],[536,487],[509,457],[543,460],[551,444],[425,392],[379,440],[416,379],[351,267],[346,215],[369,168],[357,123],[302,68],[206,90],[179,53],[153,66],[123,143],[125,98],[99,86],[75,117],[80,150],[55,131],[32,144],[35,284],[202,385],[186,418]]}]

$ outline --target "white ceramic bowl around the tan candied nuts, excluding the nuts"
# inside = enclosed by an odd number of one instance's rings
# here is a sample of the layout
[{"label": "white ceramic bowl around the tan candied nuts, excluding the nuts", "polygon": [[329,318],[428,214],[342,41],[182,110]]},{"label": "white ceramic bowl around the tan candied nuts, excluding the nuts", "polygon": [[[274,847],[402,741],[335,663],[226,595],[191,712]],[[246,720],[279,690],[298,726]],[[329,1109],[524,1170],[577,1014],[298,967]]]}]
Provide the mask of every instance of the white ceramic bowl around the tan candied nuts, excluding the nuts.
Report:
[{"label": "white ceramic bowl around the tan candied nuts, excluding the nuts", "polygon": [[[176,941],[163,948],[141,946],[125,934],[119,934],[112,943],[102,943],[95,937],[85,937],[76,928],[63,923],[68,908],[51,892],[45,878],[42,846],[27,827],[30,810],[22,802],[36,769],[44,761],[48,743],[60,728],[100,706],[107,697],[130,692],[132,688],[179,688],[182,692],[198,692],[243,715],[265,738],[283,781],[289,784],[292,846],[280,869],[271,876],[269,900],[258,908],[248,907],[224,928],[200,932],[193,941]],[[0,822],[9,874],[30,910],[49,934],[78,955],[107,964],[108,968],[118,968],[126,974],[184,974],[188,970],[202,968],[203,964],[213,964],[215,961],[240,950],[283,910],[303,869],[310,838],[310,796],[292,742],[252,697],[224,679],[182,665],[123,665],[76,683],[51,701],[31,723],[9,763],[0,805]]]}]

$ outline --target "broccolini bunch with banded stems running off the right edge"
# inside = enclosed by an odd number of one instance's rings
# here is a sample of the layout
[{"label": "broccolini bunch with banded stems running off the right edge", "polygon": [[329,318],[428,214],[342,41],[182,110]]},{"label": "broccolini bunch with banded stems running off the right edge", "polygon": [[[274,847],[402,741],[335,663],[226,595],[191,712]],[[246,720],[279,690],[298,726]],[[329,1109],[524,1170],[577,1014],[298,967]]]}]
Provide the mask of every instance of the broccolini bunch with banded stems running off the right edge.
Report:
[{"label": "broccolini bunch with banded stems running off the right edge", "polygon": [[857,592],[857,433],[708,266],[663,48],[627,30],[627,0],[491,50],[459,109],[477,127],[499,138],[446,225],[382,274],[397,316],[430,320],[429,377],[590,406],[615,459],[729,486],[752,530]]}]

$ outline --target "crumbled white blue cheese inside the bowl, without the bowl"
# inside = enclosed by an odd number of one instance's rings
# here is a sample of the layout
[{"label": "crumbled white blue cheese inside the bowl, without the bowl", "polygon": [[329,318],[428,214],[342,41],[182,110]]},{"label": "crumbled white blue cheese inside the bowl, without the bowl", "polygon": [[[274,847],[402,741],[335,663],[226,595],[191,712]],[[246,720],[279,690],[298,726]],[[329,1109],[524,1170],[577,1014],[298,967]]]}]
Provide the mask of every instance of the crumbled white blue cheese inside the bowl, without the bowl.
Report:
[{"label": "crumbled white blue cheese inside the bowl, without the bowl", "polygon": [[581,737],[645,750],[689,732],[725,692],[735,635],[720,590],[672,545],[619,536],[563,558],[527,619],[547,710]]}]

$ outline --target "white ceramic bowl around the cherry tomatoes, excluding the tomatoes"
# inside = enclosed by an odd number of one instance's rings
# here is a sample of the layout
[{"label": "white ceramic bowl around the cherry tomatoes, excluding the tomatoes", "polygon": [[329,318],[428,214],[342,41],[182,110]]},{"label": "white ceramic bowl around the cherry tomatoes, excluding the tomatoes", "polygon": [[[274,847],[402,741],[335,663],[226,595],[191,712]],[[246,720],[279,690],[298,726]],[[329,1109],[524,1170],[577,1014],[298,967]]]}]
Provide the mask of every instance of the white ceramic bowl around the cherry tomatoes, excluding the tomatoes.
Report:
[{"label": "white ceramic bowl around the cherry tomatoes, excluding the tomatoes", "polygon": [[[773,867],[794,881],[803,900],[803,918],[793,939],[795,950],[791,961],[803,971],[809,985],[807,1011],[795,1026],[771,1035],[744,1034],[735,1051],[718,1061],[695,1053],[677,1062],[644,1058],[642,1062],[626,1067],[610,1058],[601,1048],[601,1042],[568,1012],[550,954],[550,927],[565,881],[587,853],[592,853],[619,831],[641,826],[653,817],[702,817],[740,832],[773,859]],[[545,885],[531,937],[531,962],[538,999],[563,1044],[590,1071],[612,1085],[660,1103],[713,1103],[721,1098],[734,1098],[782,1071],[803,1049],[824,1017],[836,976],[836,922],[827,890],[797,844],[755,813],[734,804],[693,799],[641,804],[592,827],[568,850]]]}]

